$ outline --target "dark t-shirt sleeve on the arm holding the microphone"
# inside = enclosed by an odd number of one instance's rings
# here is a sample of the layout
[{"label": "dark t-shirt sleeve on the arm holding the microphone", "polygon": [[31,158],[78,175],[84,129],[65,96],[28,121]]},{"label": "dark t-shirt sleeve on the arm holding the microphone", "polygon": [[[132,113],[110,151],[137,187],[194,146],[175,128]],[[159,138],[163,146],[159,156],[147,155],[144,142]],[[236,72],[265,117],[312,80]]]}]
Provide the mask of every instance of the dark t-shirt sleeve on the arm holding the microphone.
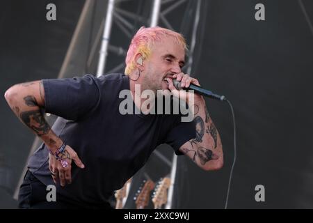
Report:
[{"label": "dark t-shirt sleeve on the arm holding the microphone", "polygon": [[172,146],[176,155],[183,155],[179,151],[180,146],[184,145],[186,141],[195,138],[195,124],[193,121],[182,122],[181,116],[177,118],[174,127],[166,136],[166,144]]}]

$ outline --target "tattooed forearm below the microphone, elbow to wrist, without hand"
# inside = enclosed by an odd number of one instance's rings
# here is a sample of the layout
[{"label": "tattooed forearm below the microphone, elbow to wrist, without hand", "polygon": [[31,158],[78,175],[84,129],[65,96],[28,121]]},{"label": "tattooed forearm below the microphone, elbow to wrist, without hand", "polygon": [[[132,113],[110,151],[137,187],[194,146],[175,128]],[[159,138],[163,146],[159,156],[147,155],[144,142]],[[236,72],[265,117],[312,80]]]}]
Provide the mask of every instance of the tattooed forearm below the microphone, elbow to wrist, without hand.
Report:
[{"label": "tattooed forearm below the microphone, elbow to wrist, without hand", "polygon": [[223,146],[202,97],[195,100],[194,113],[196,137],[182,145],[179,151],[204,170],[220,169],[223,167]]}]

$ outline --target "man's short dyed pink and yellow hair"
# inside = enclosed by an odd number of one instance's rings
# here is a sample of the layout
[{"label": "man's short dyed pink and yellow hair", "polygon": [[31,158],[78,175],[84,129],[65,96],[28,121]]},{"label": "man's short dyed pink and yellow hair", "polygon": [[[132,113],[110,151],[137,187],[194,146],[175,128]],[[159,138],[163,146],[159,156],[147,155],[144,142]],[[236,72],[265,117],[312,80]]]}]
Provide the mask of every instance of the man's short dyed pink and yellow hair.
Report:
[{"label": "man's short dyed pink and yellow hair", "polygon": [[143,55],[143,59],[148,59],[151,55],[152,45],[155,42],[160,42],[163,37],[171,36],[175,38],[176,42],[184,47],[185,52],[188,51],[186,40],[182,34],[172,31],[170,29],[161,28],[159,26],[145,28],[141,26],[141,29],[137,31],[135,36],[131,40],[127,56],[125,59],[126,68],[125,74],[129,75],[135,68],[135,56],[140,53]]}]

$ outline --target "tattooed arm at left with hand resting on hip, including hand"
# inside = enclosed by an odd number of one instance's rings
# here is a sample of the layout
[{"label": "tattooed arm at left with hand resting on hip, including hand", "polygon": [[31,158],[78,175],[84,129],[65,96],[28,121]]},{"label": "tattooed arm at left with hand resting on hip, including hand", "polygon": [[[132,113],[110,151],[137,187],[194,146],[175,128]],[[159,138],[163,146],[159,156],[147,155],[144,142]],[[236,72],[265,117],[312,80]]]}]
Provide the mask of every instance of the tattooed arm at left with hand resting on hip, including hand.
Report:
[{"label": "tattooed arm at left with hand resting on hip, including hand", "polygon": [[[45,142],[49,150],[55,154],[63,141],[56,136],[45,120],[43,112],[45,90],[42,81],[15,84],[6,91],[4,97],[19,120],[33,130]],[[77,153],[68,145],[62,153],[59,153],[58,157],[67,161],[68,164],[74,160],[77,166],[83,168],[83,163],[79,160]],[[65,182],[71,182],[71,166],[63,168],[61,162],[51,154],[49,154],[49,169],[54,173],[52,177],[55,183],[58,178],[62,186],[65,185]]]}]

